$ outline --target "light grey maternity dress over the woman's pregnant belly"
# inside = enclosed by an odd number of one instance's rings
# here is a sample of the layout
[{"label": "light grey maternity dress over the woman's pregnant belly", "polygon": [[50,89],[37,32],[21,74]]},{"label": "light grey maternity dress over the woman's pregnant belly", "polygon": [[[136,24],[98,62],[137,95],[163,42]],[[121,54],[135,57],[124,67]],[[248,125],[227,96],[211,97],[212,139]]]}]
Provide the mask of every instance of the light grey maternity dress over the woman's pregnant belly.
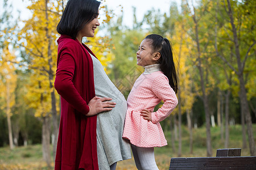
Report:
[{"label": "light grey maternity dress over the woman's pregnant belly", "polygon": [[115,103],[112,111],[97,115],[97,154],[101,170],[120,160],[131,159],[130,144],[122,138],[127,103],[122,93],[106,75],[101,62],[92,56],[94,88],[98,97],[110,97]]}]

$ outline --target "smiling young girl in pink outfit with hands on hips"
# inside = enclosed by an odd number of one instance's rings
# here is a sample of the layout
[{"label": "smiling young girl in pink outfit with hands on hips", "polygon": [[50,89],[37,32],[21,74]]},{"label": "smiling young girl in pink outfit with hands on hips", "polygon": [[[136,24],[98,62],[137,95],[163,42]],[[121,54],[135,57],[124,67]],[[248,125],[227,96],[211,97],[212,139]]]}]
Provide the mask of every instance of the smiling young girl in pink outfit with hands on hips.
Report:
[{"label": "smiling young girl in pink outfit with hands on hips", "polygon": [[[123,138],[129,139],[138,169],[158,169],[154,147],[167,145],[160,121],[176,107],[177,76],[171,44],[159,35],[148,35],[137,52],[137,65],[145,68],[127,98]],[[160,101],[164,104],[153,112]]]}]

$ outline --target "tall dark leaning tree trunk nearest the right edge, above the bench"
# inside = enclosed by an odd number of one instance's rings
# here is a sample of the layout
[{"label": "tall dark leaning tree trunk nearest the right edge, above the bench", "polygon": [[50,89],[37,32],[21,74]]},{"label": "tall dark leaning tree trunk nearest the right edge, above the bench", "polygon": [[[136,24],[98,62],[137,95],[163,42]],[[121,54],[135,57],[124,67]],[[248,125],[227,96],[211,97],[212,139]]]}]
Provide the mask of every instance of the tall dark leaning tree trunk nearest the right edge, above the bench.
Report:
[{"label": "tall dark leaning tree trunk nearest the right edge, above the bench", "polygon": [[237,65],[238,65],[238,79],[239,79],[239,83],[240,83],[240,104],[241,104],[241,108],[242,108],[242,114],[245,114],[244,116],[245,116],[245,121],[246,121],[246,125],[247,125],[250,154],[251,154],[251,156],[254,156],[255,155],[255,144],[254,144],[254,137],[253,137],[253,126],[252,126],[252,122],[251,122],[251,114],[250,114],[249,105],[248,105],[247,96],[246,96],[245,82],[243,80],[243,65],[241,62],[237,30],[236,30],[236,25],[234,25],[233,12],[232,12],[232,8],[230,5],[230,1],[227,0],[227,2],[228,2],[228,9],[229,9],[228,14],[229,14],[229,18],[230,18],[230,24],[232,25],[234,46],[235,46]]}]

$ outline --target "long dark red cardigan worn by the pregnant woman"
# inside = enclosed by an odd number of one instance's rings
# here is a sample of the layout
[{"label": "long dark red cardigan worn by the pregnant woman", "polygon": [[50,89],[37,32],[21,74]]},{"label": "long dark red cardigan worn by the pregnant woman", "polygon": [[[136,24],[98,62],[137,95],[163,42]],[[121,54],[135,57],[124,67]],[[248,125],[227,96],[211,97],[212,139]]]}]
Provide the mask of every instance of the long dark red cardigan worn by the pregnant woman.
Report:
[{"label": "long dark red cardigan worn by the pregnant woman", "polygon": [[55,169],[98,169],[97,116],[85,116],[89,112],[87,104],[95,96],[88,51],[92,52],[69,36],[61,35],[57,42],[54,86],[61,96],[61,117]]}]

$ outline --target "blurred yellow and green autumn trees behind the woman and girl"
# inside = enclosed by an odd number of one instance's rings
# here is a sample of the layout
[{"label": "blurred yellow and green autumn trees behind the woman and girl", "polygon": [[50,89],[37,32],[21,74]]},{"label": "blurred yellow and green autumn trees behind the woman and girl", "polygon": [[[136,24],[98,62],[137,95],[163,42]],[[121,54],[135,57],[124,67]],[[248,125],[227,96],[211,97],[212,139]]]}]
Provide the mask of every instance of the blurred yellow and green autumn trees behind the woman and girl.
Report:
[{"label": "blurred yellow and green autumn trees behind the woman and girl", "polygon": [[[0,18],[0,147],[42,143],[49,167],[60,117],[60,97],[53,88],[56,24],[66,3],[31,1],[32,16],[18,27],[17,21],[11,22],[11,6],[5,0]],[[234,124],[242,125],[242,147],[249,144],[250,155],[255,155],[255,1],[182,0],[181,6],[172,3],[167,13],[148,10],[141,21],[135,7],[133,11],[129,28],[122,12],[113,14],[102,2],[104,23],[93,39],[84,39],[115,86],[127,97],[143,72],[136,65],[141,41],[150,33],[167,37],[179,71],[179,105],[161,124],[179,141],[178,155],[182,156],[181,126],[188,128],[191,154],[196,140],[192,129],[205,127],[206,155],[212,156],[210,128],[220,126],[222,147],[229,147],[229,126]]]}]

